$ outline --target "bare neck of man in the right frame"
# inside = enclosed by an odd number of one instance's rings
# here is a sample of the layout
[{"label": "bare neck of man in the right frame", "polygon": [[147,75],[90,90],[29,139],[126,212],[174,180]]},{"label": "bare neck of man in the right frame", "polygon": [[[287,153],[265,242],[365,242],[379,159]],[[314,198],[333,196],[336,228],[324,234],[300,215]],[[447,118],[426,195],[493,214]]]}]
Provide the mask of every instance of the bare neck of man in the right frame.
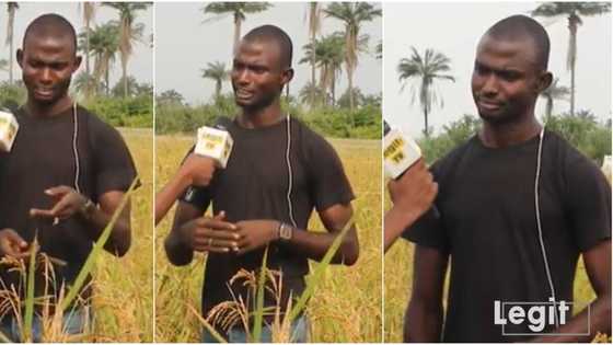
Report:
[{"label": "bare neck of man in the right frame", "polygon": [[534,138],[542,129],[541,124],[531,116],[527,120],[505,124],[484,122],[478,136],[488,148],[505,148]]}]

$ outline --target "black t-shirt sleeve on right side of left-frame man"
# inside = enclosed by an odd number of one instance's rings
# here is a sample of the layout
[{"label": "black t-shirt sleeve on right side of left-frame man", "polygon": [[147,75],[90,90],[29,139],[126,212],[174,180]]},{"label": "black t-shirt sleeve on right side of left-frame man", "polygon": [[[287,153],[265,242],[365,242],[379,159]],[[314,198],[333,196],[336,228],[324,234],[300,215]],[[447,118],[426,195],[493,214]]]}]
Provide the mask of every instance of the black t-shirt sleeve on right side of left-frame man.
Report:
[{"label": "black t-shirt sleeve on right side of left-frame man", "polygon": [[[103,124],[95,135],[95,188],[101,196],[111,191],[126,192],[137,177],[135,163],[119,133]],[[140,182],[137,183],[137,186]]]}]

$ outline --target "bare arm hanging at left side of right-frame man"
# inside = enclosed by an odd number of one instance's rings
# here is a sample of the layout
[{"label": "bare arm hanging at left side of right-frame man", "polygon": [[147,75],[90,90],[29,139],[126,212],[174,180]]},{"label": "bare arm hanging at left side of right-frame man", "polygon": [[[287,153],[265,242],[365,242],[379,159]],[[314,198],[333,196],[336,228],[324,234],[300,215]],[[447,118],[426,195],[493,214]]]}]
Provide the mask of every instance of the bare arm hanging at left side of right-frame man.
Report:
[{"label": "bare arm hanging at left side of right-frame man", "polygon": [[442,292],[449,255],[427,246],[415,246],[413,291],[404,318],[405,343],[441,341]]}]

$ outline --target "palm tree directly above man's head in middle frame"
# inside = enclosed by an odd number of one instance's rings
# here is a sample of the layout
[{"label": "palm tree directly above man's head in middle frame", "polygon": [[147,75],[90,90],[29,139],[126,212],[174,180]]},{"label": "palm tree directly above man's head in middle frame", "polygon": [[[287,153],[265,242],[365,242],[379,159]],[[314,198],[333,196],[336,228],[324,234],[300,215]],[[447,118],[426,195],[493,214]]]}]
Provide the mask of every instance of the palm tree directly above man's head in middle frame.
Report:
[{"label": "palm tree directly above man's head in middle frame", "polygon": [[269,2],[211,2],[203,8],[203,12],[217,14],[213,18],[205,20],[205,22],[219,20],[227,14],[231,14],[234,19],[234,45],[232,46],[232,54],[239,47],[241,39],[241,25],[245,21],[246,14],[263,12],[271,8]]}]

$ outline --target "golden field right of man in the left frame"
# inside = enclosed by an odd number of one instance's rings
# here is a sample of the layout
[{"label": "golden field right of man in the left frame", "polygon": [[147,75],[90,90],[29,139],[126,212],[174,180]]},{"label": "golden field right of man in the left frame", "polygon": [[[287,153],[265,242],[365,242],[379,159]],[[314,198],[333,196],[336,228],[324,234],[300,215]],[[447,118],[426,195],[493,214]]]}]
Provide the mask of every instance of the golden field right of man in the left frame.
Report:
[{"label": "golden field right of man in the left frame", "polygon": [[104,253],[95,272],[95,342],[153,341],[153,135],[151,129],[122,129],[142,185],[131,200],[132,241],[117,258]]}]

